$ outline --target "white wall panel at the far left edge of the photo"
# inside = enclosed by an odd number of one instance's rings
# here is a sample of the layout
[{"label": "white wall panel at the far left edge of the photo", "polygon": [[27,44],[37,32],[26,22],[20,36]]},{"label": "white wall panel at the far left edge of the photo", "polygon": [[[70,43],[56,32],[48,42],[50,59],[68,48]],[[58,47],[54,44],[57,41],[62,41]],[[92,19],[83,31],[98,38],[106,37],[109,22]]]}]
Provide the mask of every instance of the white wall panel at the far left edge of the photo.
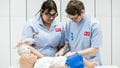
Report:
[{"label": "white wall panel at the far left edge of the photo", "polygon": [[10,63],[9,1],[0,0],[0,68]]}]

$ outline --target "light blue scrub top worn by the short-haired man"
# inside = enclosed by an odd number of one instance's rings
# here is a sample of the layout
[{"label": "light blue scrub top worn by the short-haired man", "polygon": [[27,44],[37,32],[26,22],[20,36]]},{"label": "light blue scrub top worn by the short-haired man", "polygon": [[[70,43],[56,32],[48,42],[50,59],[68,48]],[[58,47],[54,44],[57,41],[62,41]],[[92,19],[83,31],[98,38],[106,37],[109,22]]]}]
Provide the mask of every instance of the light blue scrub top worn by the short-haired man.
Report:
[{"label": "light blue scrub top worn by the short-haired man", "polygon": [[[100,48],[102,45],[102,33],[99,22],[88,16],[85,16],[79,24],[72,20],[67,20],[66,41],[70,45],[70,51],[80,51],[87,48]],[[101,64],[99,53],[87,57],[89,61],[96,60],[97,64]]]}]

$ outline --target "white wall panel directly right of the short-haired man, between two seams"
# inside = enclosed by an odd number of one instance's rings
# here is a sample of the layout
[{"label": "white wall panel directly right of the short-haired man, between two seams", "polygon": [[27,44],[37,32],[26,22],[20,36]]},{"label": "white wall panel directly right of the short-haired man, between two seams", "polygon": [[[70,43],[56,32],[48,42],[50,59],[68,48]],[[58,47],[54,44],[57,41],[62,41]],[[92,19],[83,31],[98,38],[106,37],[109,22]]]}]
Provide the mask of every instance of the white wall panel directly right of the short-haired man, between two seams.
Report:
[{"label": "white wall panel directly right of the short-haired man, between two seams", "polygon": [[[101,47],[101,57],[103,64],[111,64],[111,1],[96,0],[96,18],[101,23],[103,33],[103,45]],[[107,56],[106,56],[107,54]]]}]

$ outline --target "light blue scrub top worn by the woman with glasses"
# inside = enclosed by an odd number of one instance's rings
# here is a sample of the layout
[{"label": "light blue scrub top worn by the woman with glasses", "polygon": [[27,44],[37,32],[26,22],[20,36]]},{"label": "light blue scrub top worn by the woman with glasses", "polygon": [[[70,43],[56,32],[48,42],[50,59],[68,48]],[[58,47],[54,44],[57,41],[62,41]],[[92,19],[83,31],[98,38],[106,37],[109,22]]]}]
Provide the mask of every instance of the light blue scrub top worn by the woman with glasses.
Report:
[{"label": "light blue scrub top worn by the woman with glasses", "polygon": [[[36,34],[33,34],[36,33]],[[26,23],[22,39],[33,38],[36,43],[33,45],[40,53],[45,56],[54,56],[57,46],[64,45],[64,28],[56,20],[47,30],[40,17],[35,16]]]}]

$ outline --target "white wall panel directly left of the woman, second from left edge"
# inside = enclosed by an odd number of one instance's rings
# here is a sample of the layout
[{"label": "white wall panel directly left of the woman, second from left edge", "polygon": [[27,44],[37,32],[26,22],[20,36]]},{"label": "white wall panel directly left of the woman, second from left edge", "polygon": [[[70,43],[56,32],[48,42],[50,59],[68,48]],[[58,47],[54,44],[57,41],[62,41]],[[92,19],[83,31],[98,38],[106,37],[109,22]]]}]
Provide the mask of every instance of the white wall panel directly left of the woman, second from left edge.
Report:
[{"label": "white wall panel directly left of the woman, second from left edge", "polygon": [[11,24],[11,66],[18,66],[18,54],[16,50],[16,42],[20,39],[20,35],[24,24],[26,23],[26,1],[11,0],[10,2],[10,24]]}]

